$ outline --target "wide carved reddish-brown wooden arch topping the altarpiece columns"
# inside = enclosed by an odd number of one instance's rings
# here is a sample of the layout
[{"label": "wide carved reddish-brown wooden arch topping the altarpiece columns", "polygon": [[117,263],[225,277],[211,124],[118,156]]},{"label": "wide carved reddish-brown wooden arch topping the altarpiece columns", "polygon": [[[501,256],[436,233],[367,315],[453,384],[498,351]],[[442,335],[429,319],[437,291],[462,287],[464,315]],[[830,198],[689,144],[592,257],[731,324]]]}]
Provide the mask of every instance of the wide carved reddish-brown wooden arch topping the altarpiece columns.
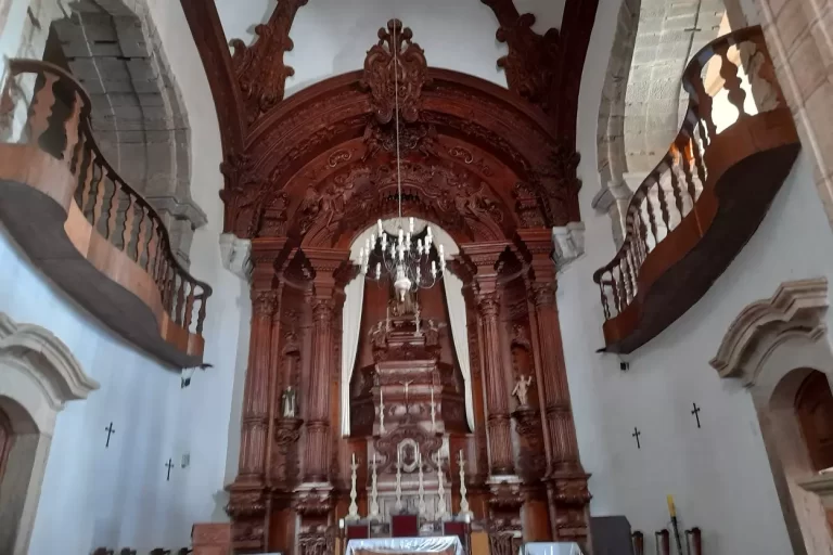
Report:
[{"label": "wide carved reddish-brown wooden arch topping the altarpiece columns", "polygon": [[[460,243],[579,219],[578,156],[540,108],[457,72],[423,66],[408,77],[412,98],[403,101],[414,112],[399,128],[407,216],[435,221]],[[396,124],[392,114],[379,117],[392,100],[376,93],[384,88],[385,75],[366,67],[265,116],[246,154],[223,164],[231,185],[222,192],[225,231],[346,246],[375,218],[395,214]]]}]

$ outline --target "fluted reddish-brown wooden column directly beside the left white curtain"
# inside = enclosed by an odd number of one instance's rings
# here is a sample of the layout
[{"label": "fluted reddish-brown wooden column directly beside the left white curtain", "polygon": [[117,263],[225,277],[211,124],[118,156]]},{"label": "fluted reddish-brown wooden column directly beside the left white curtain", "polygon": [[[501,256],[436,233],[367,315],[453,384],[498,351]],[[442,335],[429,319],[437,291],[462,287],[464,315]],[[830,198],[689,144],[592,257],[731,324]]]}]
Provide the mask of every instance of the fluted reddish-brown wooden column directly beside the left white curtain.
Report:
[{"label": "fluted reddish-brown wooden column directly beside the left white curtain", "polygon": [[307,248],[304,255],[316,272],[312,281],[312,364],[307,399],[307,424],[304,481],[329,481],[330,441],[330,378],[333,364],[333,318],[338,313],[335,304],[343,302],[337,295],[336,272],[348,264],[349,251],[341,249]]}]

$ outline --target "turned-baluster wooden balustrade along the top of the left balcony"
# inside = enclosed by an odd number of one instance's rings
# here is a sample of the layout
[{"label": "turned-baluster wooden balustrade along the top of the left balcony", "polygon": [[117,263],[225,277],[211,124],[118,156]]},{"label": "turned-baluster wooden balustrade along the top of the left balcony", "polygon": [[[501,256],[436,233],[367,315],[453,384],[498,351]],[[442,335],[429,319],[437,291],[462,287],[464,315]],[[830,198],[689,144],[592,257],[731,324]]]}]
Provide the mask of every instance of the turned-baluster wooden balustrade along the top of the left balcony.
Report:
[{"label": "turned-baluster wooden balustrade along the top of the left balcony", "polygon": [[[26,98],[31,102],[25,120],[17,121]],[[212,288],[179,263],[163,219],[102,155],[91,131],[90,98],[80,83],[55,65],[12,60],[3,101],[5,143],[39,147],[64,164],[87,222],[150,276],[169,323],[201,335]]]}]

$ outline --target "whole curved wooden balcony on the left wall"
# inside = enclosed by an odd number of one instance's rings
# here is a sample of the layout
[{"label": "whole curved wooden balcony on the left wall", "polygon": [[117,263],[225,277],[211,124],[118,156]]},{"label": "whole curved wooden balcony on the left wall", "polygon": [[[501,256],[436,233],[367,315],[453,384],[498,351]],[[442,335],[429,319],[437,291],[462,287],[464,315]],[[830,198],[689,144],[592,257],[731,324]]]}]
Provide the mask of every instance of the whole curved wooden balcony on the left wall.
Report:
[{"label": "whole curved wooden balcony on the left wall", "polygon": [[200,365],[212,288],[102,156],[84,88],[52,64],[13,60],[3,108],[0,219],[15,241],[107,327],[165,363]]}]

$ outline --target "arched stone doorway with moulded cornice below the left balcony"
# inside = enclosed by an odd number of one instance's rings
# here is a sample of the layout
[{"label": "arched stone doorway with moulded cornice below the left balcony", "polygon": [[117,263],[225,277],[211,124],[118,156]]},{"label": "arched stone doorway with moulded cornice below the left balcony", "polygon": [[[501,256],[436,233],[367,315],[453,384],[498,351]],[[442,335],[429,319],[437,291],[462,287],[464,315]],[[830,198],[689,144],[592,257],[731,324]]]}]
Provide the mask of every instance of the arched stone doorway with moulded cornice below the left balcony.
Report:
[{"label": "arched stone doorway with moulded cornice below the left balcony", "polygon": [[98,387],[57,337],[0,312],[0,553],[27,553],[57,413]]}]

